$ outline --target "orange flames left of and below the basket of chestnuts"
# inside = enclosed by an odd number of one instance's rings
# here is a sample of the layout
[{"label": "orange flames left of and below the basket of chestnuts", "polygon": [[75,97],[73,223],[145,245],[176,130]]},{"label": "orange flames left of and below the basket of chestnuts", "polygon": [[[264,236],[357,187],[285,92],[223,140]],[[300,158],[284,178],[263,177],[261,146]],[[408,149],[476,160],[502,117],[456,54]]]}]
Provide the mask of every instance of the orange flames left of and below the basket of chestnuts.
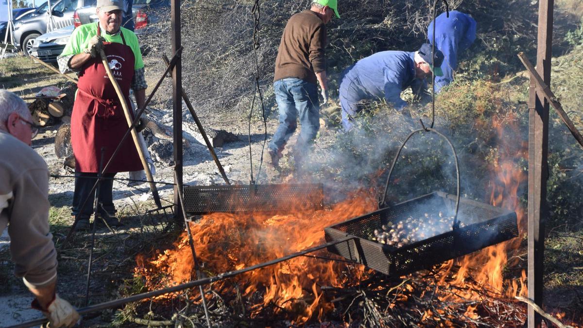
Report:
[{"label": "orange flames left of and below the basket of chestnuts", "polygon": [[[362,192],[359,195],[333,205],[330,210],[307,210],[297,204],[296,211],[288,214],[205,215],[190,226],[196,254],[203,264],[202,271],[209,276],[217,275],[320,245],[325,242],[326,226],[376,209],[373,194]],[[182,233],[173,249],[160,253],[153,260],[141,257],[136,271],[146,278],[150,288],[192,280],[195,270],[186,233]],[[294,318],[293,323],[298,324],[333,309],[331,303],[321,302],[322,285],[345,287],[362,274],[361,267],[296,257],[229,281],[216,282],[213,289],[220,294],[235,294],[238,288],[243,296],[261,295],[261,302],[253,306],[252,315],[264,306],[274,305],[278,309],[276,312],[286,311]]]}]

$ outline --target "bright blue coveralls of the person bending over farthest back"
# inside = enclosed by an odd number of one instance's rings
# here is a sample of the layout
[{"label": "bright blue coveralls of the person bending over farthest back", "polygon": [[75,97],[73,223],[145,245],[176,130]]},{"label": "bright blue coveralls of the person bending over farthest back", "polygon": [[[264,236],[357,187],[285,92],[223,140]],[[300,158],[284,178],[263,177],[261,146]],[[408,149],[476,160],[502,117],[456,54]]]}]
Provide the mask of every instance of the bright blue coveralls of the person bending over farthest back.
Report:
[{"label": "bright blue coveralls of the person bending over farthest back", "polygon": [[[469,15],[458,11],[437,16],[436,47],[444,54],[441,64],[443,76],[436,76],[436,93],[454,81],[454,69],[458,68],[458,54],[468,49],[476,40],[476,21]],[[427,39],[433,44],[433,21],[427,28]]]}]

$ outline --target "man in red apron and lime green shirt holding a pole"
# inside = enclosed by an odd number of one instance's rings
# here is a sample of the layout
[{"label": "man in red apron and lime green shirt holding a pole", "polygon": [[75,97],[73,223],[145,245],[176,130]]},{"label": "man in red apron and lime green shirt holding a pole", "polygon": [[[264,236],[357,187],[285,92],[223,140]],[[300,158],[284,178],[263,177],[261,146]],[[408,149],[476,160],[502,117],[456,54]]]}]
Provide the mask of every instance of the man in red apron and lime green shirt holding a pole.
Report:
[{"label": "man in red apron and lime green shirt holding a pole", "polygon": [[[90,191],[99,172],[101,149],[104,149],[103,165],[106,165],[128,129],[120,100],[101,62],[101,49],[106,53],[125,101],[129,104],[130,88],[134,90],[138,109],[146,99],[147,85],[138,38],[134,32],[121,27],[123,8],[121,0],[97,0],[99,22],[73,30],[69,43],[58,57],[61,72],[77,71],[79,75],[71,116],[71,144],[76,161],[73,215],[79,216],[77,227],[81,229],[89,227],[89,217],[93,214],[94,193]],[[126,138],[104,172],[106,179],[101,182],[99,198],[103,207],[100,214],[108,224],[119,224],[114,217],[112,194],[115,173],[141,169],[132,138]]]}]

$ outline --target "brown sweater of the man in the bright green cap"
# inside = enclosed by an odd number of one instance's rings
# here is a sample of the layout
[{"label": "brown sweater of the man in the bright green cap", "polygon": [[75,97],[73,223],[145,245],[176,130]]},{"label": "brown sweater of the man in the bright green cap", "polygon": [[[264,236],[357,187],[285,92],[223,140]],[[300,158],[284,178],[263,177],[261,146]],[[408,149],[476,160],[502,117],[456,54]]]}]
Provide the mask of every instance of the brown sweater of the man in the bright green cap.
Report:
[{"label": "brown sweater of the man in the bright green cap", "polygon": [[275,60],[273,81],[298,78],[316,84],[316,75],[326,69],[326,25],[309,9],[291,16],[283,30]]}]

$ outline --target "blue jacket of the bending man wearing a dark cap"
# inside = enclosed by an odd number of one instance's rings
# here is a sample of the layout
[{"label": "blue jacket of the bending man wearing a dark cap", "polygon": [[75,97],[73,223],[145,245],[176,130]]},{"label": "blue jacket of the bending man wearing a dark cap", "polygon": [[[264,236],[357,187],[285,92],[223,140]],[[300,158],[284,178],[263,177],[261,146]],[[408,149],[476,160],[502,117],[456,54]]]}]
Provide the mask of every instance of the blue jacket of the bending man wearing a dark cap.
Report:
[{"label": "blue jacket of the bending man wearing a dark cap", "polygon": [[[346,81],[345,81],[346,80]],[[361,91],[358,95],[351,88],[342,88],[342,84],[353,82]],[[396,109],[407,106],[401,99],[401,92],[412,86],[419,86],[415,77],[415,52],[381,51],[356,62],[347,70],[340,85],[340,97],[351,101],[365,98],[384,97]]]}]

